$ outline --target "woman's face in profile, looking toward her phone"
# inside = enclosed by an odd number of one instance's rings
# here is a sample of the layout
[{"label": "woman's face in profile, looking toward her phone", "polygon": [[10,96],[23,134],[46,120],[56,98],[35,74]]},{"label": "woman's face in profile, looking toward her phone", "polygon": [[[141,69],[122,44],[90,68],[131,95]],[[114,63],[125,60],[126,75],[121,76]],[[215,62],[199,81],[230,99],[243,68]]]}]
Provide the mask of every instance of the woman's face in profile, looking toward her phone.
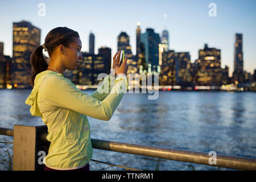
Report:
[{"label": "woman's face in profile, looking toward her phone", "polygon": [[69,44],[69,47],[65,47],[65,59],[64,67],[68,70],[74,70],[79,66],[82,61],[81,55],[82,42],[80,38],[74,38],[74,42]]}]

